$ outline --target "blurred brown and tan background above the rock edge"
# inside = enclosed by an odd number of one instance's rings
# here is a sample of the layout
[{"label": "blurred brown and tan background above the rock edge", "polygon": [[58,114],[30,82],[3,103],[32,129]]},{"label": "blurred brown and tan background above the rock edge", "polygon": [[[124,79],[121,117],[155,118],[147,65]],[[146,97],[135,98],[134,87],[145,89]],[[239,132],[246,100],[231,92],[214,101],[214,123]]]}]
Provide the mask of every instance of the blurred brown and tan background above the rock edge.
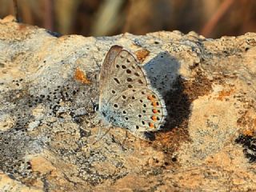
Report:
[{"label": "blurred brown and tan background above the rock edge", "polygon": [[59,34],[106,36],[194,30],[206,38],[256,32],[255,0],[0,0],[0,18]]}]

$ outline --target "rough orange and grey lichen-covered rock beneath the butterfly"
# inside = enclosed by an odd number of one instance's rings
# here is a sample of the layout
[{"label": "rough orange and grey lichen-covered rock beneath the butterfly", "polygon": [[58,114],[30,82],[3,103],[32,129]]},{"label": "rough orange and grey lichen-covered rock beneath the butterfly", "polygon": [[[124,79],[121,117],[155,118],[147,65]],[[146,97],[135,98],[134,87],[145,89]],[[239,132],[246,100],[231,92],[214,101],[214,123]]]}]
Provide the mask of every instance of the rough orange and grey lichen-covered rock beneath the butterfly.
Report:
[{"label": "rough orange and grey lichen-covered rock beneath the butterfly", "polygon": [[[166,100],[146,142],[98,142],[98,74],[120,45]],[[0,20],[0,191],[256,190],[256,34],[85,38]],[[105,133],[108,127],[101,127]]]}]

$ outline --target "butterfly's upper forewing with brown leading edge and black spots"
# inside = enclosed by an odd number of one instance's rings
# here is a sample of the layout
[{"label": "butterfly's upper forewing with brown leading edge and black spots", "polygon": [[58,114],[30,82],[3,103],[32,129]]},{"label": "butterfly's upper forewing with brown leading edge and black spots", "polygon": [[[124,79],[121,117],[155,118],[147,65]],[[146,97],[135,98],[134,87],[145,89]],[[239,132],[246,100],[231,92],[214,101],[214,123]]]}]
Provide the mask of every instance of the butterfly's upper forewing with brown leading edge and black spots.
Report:
[{"label": "butterfly's upper forewing with brown leading edge and black spots", "polygon": [[99,110],[110,99],[132,87],[146,86],[146,78],[132,54],[112,46],[102,64],[99,81]]}]

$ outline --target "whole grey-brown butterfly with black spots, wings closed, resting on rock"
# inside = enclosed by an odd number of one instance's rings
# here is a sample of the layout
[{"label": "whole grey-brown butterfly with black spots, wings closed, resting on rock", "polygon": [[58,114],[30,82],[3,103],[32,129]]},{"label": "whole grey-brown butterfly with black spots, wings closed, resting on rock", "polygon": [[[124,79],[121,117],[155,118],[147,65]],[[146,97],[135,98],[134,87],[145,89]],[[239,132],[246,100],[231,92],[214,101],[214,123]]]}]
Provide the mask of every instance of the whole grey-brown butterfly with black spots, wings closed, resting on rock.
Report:
[{"label": "whole grey-brown butterfly with black spots, wings closed, resting on rock", "polygon": [[99,112],[113,126],[133,134],[161,129],[165,103],[150,86],[146,73],[130,52],[112,46],[102,65]]}]

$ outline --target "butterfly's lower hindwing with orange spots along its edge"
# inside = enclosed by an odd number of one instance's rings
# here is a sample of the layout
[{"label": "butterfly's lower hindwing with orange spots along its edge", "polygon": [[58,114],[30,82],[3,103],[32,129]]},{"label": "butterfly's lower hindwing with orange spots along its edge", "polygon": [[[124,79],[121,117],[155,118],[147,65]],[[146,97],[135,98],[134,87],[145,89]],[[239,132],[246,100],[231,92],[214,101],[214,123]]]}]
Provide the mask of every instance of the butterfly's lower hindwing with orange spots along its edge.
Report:
[{"label": "butterfly's lower hindwing with orange spots along its edge", "polygon": [[157,91],[147,87],[125,90],[109,102],[114,125],[133,132],[154,131],[163,126],[166,107]]}]

